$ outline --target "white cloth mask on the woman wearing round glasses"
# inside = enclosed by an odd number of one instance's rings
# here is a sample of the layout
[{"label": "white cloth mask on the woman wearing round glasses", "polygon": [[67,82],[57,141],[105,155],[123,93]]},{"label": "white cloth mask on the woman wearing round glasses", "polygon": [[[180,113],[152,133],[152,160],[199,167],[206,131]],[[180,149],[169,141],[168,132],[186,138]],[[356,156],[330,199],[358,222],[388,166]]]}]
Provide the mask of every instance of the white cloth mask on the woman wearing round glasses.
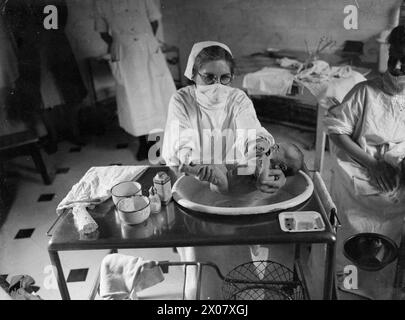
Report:
[{"label": "white cloth mask on the woman wearing round glasses", "polygon": [[195,95],[197,102],[205,108],[224,107],[232,88],[220,83],[210,85],[196,85]]}]

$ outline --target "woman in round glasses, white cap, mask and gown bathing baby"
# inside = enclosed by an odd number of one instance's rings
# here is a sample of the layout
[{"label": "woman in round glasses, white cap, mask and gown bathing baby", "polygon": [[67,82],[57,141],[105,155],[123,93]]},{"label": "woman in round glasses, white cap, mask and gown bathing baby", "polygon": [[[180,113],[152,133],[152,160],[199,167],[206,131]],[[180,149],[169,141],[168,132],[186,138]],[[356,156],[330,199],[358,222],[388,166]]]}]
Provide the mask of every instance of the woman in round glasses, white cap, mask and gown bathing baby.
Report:
[{"label": "woman in round glasses, white cap, mask and gown bathing baby", "polygon": [[[274,144],[271,134],[260,125],[252,101],[243,91],[230,86],[233,73],[234,61],[226,45],[206,41],[193,46],[185,76],[194,84],[177,91],[169,104],[162,150],[167,164],[249,165],[256,156],[257,140]],[[285,183],[285,177],[281,170],[270,171],[259,187],[272,193]],[[251,261],[248,246],[188,247],[178,251],[183,261],[213,261],[224,274]],[[195,280],[195,273],[188,272],[189,299],[195,298]],[[201,298],[221,299],[220,289],[221,281],[215,272],[204,270]]]}]

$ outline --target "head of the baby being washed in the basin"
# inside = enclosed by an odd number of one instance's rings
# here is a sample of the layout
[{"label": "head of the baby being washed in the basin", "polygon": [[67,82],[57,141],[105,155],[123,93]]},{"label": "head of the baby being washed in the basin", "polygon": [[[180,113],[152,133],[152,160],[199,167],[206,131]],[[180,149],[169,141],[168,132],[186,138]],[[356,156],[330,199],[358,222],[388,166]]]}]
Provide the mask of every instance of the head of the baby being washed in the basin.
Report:
[{"label": "head of the baby being washed in the basin", "polygon": [[277,143],[270,150],[272,169],[279,168],[286,177],[297,174],[304,167],[304,154],[293,143]]}]

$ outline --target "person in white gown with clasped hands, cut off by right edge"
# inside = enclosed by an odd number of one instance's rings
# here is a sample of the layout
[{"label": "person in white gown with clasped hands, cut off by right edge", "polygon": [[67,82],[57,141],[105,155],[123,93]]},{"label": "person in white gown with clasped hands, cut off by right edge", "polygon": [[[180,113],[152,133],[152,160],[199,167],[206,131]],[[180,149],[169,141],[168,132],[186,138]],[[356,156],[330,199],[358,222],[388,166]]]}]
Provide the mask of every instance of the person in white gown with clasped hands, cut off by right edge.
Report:
[{"label": "person in white gown with clasped hands, cut off by right edge", "polygon": [[[397,154],[400,159],[395,167],[386,162],[384,153],[405,141],[403,26],[391,32],[389,43],[388,71],[382,77],[356,85],[342,104],[330,109],[325,121],[337,147],[331,191],[342,223],[337,238],[338,275],[346,265],[353,265],[343,255],[343,243],[348,237],[373,232],[397,244],[401,237],[405,199],[399,196],[392,201],[387,194],[397,189],[404,179],[401,159],[405,154]],[[390,299],[394,271],[395,263],[378,272],[358,269],[359,290],[353,292]]]}]

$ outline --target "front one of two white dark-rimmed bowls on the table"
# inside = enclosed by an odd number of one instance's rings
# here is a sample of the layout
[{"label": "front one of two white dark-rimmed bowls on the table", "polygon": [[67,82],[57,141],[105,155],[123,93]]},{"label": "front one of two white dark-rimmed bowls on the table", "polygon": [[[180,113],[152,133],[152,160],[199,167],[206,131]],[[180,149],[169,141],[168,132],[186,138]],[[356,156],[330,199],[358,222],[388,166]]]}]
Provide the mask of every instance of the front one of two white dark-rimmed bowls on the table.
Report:
[{"label": "front one of two white dark-rimmed bowls on the table", "polygon": [[125,224],[140,224],[149,218],[150,201],[145,196],[133,196],[118,201],[117,211]]}]

